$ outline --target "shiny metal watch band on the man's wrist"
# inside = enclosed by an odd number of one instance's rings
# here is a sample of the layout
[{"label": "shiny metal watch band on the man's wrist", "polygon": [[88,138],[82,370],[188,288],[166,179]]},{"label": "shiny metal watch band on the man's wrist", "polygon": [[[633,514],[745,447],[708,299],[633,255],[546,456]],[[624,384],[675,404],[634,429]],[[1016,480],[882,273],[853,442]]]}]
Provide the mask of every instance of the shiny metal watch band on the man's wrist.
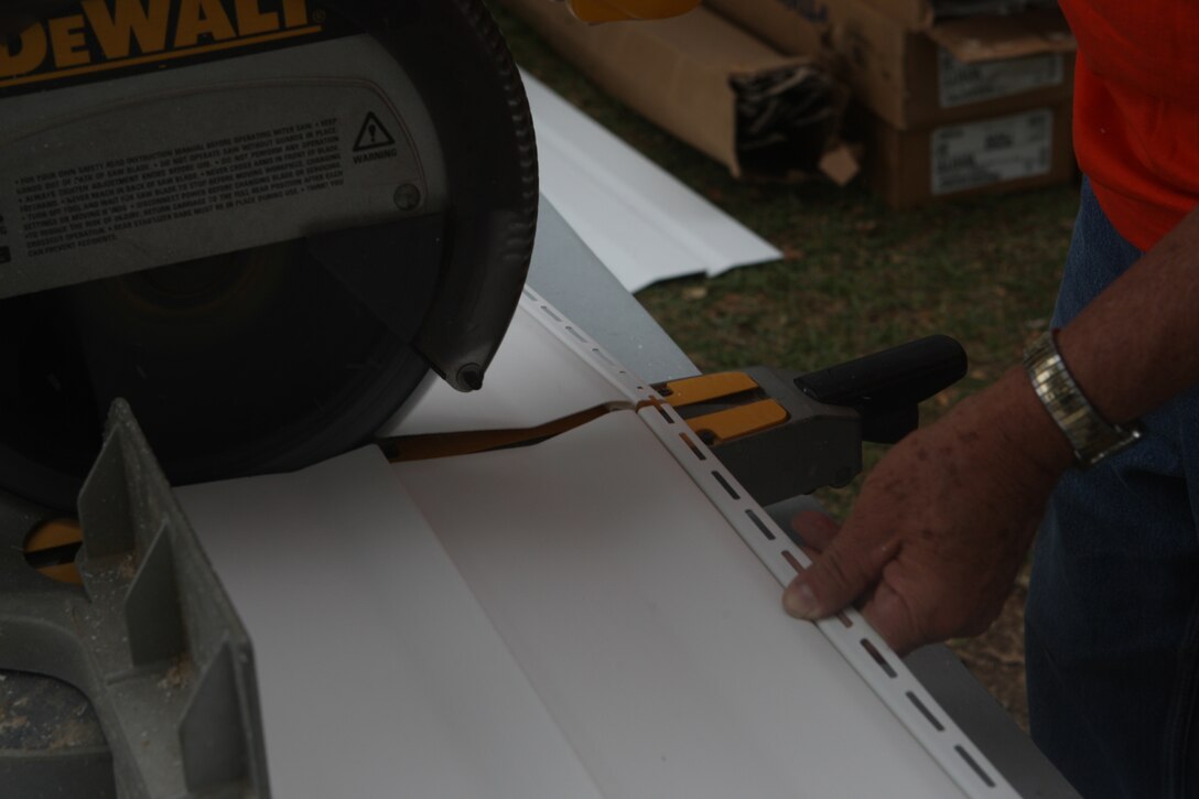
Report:
[{"label": "shiny metal watch band on the man's wrist", "polygon": [[1074,459],[1083,469],[1135,444],[1140,425],[1110,425],[1086,400],[1066,368],[1050,330],[1024,352],[1024,370],[1046,410],[1074,449]]}]

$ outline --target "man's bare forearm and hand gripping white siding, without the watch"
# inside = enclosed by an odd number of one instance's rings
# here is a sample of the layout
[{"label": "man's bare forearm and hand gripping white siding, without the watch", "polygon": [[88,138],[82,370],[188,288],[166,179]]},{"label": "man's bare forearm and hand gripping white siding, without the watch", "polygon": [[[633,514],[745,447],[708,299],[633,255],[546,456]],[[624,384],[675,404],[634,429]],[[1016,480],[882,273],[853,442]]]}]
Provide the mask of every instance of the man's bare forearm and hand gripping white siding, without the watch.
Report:
[{"label": "man's bare forearm and hand gripping white siding, without the watch", "polygon": [[[1199,209],[1064,328],[1058,346],[1111,423],[1199,382]],[[1065,434],[1013,368],[887,453],[783,602],[818,619],[862,599],[899,653],[983,632],[1072,464]]]}]

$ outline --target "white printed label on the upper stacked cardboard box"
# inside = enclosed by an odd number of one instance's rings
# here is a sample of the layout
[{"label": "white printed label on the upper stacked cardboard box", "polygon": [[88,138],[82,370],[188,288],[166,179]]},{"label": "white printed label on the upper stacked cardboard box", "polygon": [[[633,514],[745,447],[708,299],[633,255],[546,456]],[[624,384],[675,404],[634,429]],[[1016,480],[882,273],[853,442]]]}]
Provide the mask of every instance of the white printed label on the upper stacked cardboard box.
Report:
[{"label": "white printed label on the upper stacked cardboard box", "polygon": [[1035,89],[1061,85],[1061,53],[1042,53],[1000,61],[964,64],[944,47],[938,50],[941,108],[957,108]]}]

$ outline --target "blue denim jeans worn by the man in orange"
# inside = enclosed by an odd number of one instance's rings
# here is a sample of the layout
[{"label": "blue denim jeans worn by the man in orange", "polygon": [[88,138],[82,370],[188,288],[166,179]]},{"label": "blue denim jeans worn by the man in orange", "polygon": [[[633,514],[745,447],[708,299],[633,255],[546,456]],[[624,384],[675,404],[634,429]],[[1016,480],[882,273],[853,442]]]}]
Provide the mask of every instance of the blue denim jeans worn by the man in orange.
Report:
[{"label": "blue denim jeans worn by the man in orange", "polygon": [[[1139,257],[1084,182],[1054,325]],[[1032,738],[1087,798],[1199,795],[1199,391],[1141,421],[1139,444],[1061,481],[1032,564]]]}]

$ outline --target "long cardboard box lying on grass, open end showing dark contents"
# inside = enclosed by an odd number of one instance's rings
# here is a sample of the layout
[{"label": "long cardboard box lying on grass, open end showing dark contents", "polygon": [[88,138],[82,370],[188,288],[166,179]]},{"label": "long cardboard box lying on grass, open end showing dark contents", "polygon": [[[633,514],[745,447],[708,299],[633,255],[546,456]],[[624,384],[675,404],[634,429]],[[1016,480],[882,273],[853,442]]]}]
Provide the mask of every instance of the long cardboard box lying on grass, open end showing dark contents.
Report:
[{"label": "long cardboard box lying on grass, open end showing dark contents", "polygon": [[[735,176],[856,174],[836,134],[849,91],[811,58],[785,56],[704,8],[589,26],[565,4],[506,0],[567,60]],[[747,107],[758,103],[761,114]]]}]

